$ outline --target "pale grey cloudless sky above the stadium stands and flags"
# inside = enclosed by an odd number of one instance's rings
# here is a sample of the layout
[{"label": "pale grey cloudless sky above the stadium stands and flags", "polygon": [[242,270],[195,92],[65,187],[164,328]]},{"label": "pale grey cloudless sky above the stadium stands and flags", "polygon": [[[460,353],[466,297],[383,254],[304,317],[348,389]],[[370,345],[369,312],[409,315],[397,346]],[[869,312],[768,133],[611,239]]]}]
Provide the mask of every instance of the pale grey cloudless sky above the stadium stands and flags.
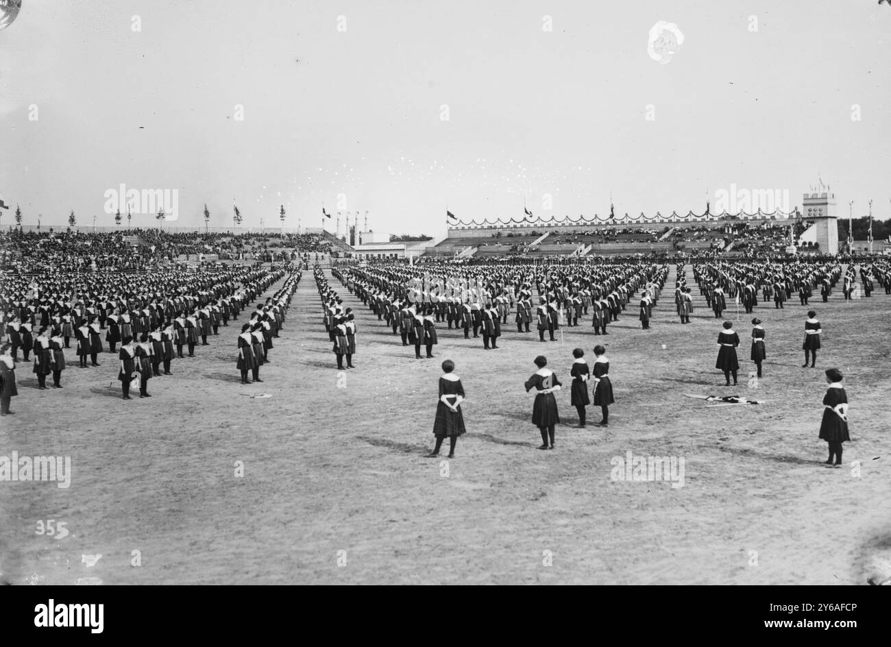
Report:
[{"label": "pale grey cloudless sky above the stadium stands and flags", "polygon": [[[683,33],[667,62],[658,21]],[[24,0],[0,30],[0,225],[112,225],[120,184],[176,190],[179,226],[234,202],[317,227],[324,205],[435,236],[446,206],[701,213],[819,179],[886,218],[889,35],[875,0]]]}]

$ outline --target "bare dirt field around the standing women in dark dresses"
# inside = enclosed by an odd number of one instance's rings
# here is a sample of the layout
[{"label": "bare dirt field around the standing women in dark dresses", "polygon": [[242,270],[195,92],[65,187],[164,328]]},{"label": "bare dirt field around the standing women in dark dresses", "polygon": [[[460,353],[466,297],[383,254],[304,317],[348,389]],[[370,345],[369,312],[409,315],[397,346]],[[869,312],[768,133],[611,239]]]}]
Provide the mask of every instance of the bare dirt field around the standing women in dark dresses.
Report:
[{"label": "bare dirt field around the standing women in dark dresses", "polygon": [[[107,353],[100,368],[78,369],[70,349],[61,390],[38,391],[20,364],[0,455],[69,455],[72,477],[67,489],[0,482],[0,579],[850,585],[877,568],[891,576],[891,297],[812,299],[824,331],[816,369],[800,365],[807,308],[759,305],[764,378],[757,389],[748,378],[724,389],[714,369],[720,322],[699,309],[681,325],[673,284],[650,331],[629,309],[607,338],[594,337],[590,319],[562,344],[509,324],[502,348],[484,351],[481,338],[443,323],[436,358],[423,360],[344,288],[358,353],[356,369],[339,374],[305,272],[262,384],[239,383],[232,325],[196,358],[175,360],[173,376],[152,379],[150,399],[120,399]],[[736,330],[746,375],[746,315]],[[604,339],[617,399],[610,426],[576,429],[571,351],[593,361]],[[522,388],[540,353],[567,385],[555,451],[536,451]],[[424,457],[446,358],[467,392],[468,434],[451,461]],[[817,438],[830,366],[845,373],[851,403],[842,469],[822,464]],[[769,404],[707,407],[684,393]],[[588,418],[599,411],[589,407]],[[611,479],[610,460],[627,452],[683,456],[683,487]],[[69,535],[38,535],[38,520],[62,521]],[[95,554],[88,567],[82,555]]]}]

